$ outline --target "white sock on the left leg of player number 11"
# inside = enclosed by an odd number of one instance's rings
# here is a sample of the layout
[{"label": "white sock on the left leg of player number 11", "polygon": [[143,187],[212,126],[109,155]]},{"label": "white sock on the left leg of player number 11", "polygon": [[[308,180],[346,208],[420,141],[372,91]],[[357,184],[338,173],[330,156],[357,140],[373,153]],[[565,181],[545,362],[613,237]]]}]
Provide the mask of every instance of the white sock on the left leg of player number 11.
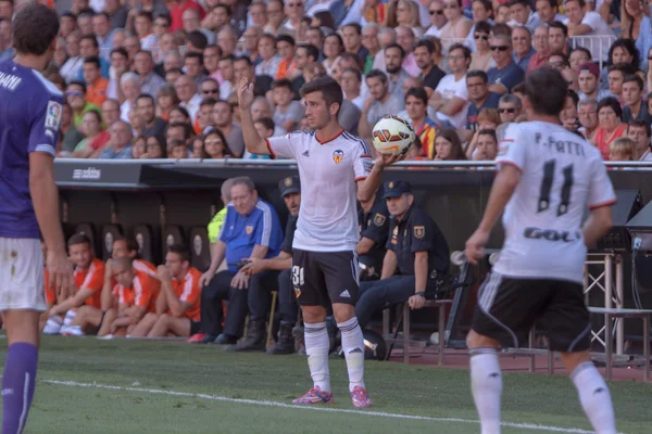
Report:
[{"label": "white sock on the left leg of player number 11", "polygon": [[471,350],[471,390],[480,417],[482,434],[499,434],[502,375],[496,349]]}]

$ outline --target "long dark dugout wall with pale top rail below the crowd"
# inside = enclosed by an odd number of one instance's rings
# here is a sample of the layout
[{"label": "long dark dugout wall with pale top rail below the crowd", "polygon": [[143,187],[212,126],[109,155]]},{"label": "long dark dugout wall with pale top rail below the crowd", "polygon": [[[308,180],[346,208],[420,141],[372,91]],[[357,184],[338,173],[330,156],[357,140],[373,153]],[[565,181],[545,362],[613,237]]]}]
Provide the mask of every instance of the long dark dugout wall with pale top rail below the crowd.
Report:
[{"label": "long dark dugout wall with pale top rail below the crowd", "polygon": [[[412,184],[416,204],[435,219],[452,252],[463,250],[481,218],[493,180],[493,162],[401,162],[385,171],[384,180],[402,179]],[[607,166],[614,168],[610,177],[617,190],[636,189],[641,191],[643,204],[650,201],[652,164],[623,162]],[[111,243],[103,239],[106,235],[102,228],[112,225],[117,231],[145,239],[149,244],[148,259],[158,263],[172,237],[185,241],[193,257],[198,260],[203,257],[205,264],[205,226],[223,206],[222,182],[235,176],[252,178],[261,197],[276,208],[285,227],[287,210],[279,196],[278,180],[296,174],[292,161],[58,158],[54,164],[66,233],[73,233],[82,224],[91,224],[95,239],[101,241],[96,243],[96,253],[104,257],[110,254],[106,248]],[[500,247],[502,240],[499,225],[488,246]],[[632,305],[631,256],[629,252],[620,254],[623,286],[627,289],[624,304],[628,307]],[[603,293],[589,296],[591,306],[603,306]],[[652,306],[652,292],[642,293],[641,298],[643,306]],[[468,323],[472,311],[473,306],[467,306],[462,324]],[[419,327],[434,329],[432,315],[413,312],[412,328]],[[630,334],[628,330],[625,333]],[[640,335],[640,329],[632,333]]]}]

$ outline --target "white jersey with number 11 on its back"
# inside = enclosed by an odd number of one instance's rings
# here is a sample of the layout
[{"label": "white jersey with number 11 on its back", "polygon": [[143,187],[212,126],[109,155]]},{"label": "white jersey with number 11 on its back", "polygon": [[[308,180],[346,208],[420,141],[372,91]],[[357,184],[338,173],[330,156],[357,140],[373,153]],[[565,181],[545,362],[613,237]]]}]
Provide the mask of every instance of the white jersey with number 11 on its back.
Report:
[{"label": "white jersey with number 11 on its back", "polygon": [[516,166],[522,178],[503,214],[505,241],[493,269],[581,283],[587,206],[616,202],[600,151],[559,125],[530,122],[509,126],[496,162]]}]

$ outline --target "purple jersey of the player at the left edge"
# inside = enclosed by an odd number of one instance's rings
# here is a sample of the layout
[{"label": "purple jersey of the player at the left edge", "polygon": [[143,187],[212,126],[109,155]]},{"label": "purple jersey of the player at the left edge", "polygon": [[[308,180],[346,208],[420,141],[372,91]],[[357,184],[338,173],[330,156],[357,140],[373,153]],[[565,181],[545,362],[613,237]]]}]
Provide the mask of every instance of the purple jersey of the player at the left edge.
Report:
[{"label": "purple jersey of the player at the left edge", "polygon": [[39,238],[29,194],[29,153],[54,157],[63,94],[40,73],[0,63],[0,237]]}]

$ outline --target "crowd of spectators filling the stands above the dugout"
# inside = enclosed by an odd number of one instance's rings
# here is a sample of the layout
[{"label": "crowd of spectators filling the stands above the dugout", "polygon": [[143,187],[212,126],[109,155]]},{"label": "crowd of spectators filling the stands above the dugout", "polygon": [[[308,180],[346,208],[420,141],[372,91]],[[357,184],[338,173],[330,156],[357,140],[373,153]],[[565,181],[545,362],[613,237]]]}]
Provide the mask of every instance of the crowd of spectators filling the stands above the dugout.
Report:
[{"label": "crowd of spectators filling the stands above the dugout", "polygon": [[[0,0],[0,60],[15,3]],[[349,132],[398,114],[410,159],[493,159],[526,119],[525,74],[548,65],[569,85],[565,128],[604,159],[649,161],[649,15],[640,0],[72,0],[45,72],[65,92],[58,155],[263,158],[244,149],[240,78],[266,138],[306,129],[299,89],[329,75]]]}]

